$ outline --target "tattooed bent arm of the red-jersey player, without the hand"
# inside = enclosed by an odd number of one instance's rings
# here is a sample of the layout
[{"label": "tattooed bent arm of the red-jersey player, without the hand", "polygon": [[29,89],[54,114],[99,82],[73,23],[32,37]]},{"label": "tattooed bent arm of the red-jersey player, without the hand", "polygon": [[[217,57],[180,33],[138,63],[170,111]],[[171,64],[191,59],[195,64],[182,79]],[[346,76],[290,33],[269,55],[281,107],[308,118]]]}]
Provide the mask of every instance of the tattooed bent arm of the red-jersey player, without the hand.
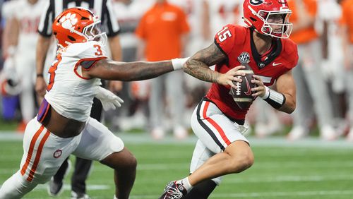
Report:
[{"label": "tattooed bent arm of the red-jersey player, without the hand", "polygon": [[210,70],[210,66],[227,59],[215,43],[209,47],[196,52],[186,62],[184,71],[189,75],[210,83],[217,83],[220,73]]}]

